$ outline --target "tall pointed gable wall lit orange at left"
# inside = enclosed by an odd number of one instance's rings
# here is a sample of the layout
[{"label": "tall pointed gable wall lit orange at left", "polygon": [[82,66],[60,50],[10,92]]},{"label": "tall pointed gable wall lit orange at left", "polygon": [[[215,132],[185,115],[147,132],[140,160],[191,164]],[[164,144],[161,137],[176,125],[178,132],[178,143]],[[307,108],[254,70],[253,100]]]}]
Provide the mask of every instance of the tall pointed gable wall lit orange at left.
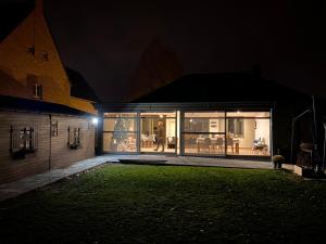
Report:
[{"label": "tall pointed gable wall lit orange at left", "polygon": [[[34,48],[34,53],[28,52]],[[35,8],[0,43],[0,69],[22,85],[28,75],[49,88],[50,102],[68,103],[70,81],[49,30],[42,9]],[[47,59],[45,59],[47,57]],[[51,87],[58,87],[57,94]],[[45,94],[47,92],[45,91]]]}]

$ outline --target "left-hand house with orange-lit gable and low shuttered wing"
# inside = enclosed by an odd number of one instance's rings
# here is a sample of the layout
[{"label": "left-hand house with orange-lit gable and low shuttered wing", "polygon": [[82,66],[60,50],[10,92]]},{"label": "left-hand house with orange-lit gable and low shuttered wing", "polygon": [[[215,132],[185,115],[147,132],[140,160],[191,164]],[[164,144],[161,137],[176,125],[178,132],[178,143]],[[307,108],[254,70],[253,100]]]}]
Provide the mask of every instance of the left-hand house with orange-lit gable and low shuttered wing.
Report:
[{"label": "left-hand house with orange-lit gable and low shuttered wing", "polygon": [[98,99],[62,63],[42,7],[0,8],[0,183],[95,155]]}]

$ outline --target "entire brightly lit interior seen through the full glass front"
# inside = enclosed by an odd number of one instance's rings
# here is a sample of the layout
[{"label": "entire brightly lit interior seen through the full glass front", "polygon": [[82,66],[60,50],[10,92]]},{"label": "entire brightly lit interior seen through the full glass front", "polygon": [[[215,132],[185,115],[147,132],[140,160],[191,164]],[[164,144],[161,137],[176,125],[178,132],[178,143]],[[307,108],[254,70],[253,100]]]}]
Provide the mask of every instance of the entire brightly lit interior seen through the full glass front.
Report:
[{"label": "entire brightly lit interior seen through the full glass front", "polygon": [[105,113],[103,151],[269,156],[271,114],[240,111]]}]

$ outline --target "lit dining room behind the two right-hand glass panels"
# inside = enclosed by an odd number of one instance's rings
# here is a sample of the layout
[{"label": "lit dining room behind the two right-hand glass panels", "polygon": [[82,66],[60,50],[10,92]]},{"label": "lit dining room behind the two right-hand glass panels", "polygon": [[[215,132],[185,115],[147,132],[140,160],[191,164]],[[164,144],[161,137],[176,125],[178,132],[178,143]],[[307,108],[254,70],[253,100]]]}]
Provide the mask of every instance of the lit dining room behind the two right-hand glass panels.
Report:
[{"label": "lit dining room behind the two right-hand glass panels", "polygon": [[271,155],[268,112],[185,113],[186,154]]}]

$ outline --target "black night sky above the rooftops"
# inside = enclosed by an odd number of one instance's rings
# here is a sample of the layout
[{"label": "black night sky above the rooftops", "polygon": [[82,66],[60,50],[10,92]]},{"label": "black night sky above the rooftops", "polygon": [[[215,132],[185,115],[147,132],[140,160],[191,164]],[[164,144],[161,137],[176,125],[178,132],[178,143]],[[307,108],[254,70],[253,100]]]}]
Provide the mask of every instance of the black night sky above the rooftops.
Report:
[{"label": "black night sky above the rooftops", "polygon": [[264,78],[326,95],[321,2],[46,0],[45,12],[63,62],[103,101],[125,98],[154,39],[177,54],[184,74],[261,65]]}]

